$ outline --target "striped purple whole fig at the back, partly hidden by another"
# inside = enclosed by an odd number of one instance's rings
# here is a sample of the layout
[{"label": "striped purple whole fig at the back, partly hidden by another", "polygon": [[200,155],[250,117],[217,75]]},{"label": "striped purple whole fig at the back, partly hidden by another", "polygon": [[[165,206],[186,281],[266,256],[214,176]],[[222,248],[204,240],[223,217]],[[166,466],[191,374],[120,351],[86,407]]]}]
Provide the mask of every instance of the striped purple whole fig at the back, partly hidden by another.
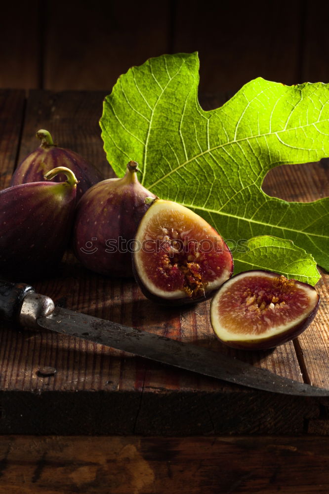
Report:
[{"label": "striped purple whole fig at the back, partly hidden by another", "polygon": [[[11,178],[11,186],[40,182],[49,170],[57,166],[66,166],[77,177],[77,200],[79,200],[86,190],[104,179],[100,171],[85,161],[82,156],[70,149],[57,147],[47,130],[38,130],[36,136],[41,139],[41,145],[18,165]],[[63,174],[59,174],[55,178],[56,182],[64,182],[65,180],[66,177]]]}]

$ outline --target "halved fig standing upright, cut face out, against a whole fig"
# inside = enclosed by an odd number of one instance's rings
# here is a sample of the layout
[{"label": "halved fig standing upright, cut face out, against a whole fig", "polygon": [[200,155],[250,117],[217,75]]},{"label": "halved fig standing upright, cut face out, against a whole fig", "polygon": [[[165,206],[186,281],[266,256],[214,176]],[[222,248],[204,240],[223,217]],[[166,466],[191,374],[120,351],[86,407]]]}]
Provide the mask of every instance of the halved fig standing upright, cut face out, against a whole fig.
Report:
[{"label": "halved fig standing upright, cut face out, against a whole fig", "polygon": [[233,272],[230,249],[198,214],[156,199],[135,237],[133,270],[144,295],[165,305],[209,298]]}]

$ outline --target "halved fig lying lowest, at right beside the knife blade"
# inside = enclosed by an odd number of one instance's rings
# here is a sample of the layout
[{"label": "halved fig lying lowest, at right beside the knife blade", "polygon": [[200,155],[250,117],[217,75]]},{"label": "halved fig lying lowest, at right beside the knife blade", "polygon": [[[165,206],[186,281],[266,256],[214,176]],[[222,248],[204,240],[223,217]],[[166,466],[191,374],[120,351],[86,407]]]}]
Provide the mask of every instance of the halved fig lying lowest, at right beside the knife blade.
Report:
[{"label": "halved fig lying lowest, at right beside the knife blade", "polygon": [[211,326],[228,346],[266,350],[282,345],[313,321],[315,288],[271,271],[245,271],[222,285],[211,301]]}]

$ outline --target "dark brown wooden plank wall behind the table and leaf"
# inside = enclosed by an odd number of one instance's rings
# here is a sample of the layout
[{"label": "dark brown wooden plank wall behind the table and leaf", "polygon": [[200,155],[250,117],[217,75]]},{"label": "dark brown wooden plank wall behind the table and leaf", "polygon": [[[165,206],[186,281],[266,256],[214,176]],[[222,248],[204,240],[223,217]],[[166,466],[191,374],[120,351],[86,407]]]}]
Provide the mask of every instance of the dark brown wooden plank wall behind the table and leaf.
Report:
[{"label": "dark brown wooden plank wall behind the table and leaf", "polygon": [[328,1],[9,1],[0,87],[110,91],[132,65],[195,50],[204,93],[258,76],[329,82],[328,25]]}]

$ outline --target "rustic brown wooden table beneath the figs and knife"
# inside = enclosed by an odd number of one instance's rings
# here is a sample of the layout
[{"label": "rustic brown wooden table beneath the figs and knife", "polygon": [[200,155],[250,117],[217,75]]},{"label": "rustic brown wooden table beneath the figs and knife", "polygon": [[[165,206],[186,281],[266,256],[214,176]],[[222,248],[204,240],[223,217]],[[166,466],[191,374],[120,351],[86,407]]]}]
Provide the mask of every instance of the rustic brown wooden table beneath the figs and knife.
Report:
[{"label": "rustic brown wooden table beneath the figs and knife", "polygon": [[[105,94],[1,90],[1,188],[39,145],[39,128],[112,177],[98,125]],[[325,197],[328,163],[272,170],[263,188],[286,200]],[[133,280],[93,274],[70,252],[56,277],[34,287],[62,306],[329,388],[328,274],[309,329],[275,350],[247,353],[215,339],[209,302],[158,307]],[[0,493],[328,493],[329,399],[247,389],[73,337],[1,328]],[[56,374],[42,377],[43,366]]]}]

